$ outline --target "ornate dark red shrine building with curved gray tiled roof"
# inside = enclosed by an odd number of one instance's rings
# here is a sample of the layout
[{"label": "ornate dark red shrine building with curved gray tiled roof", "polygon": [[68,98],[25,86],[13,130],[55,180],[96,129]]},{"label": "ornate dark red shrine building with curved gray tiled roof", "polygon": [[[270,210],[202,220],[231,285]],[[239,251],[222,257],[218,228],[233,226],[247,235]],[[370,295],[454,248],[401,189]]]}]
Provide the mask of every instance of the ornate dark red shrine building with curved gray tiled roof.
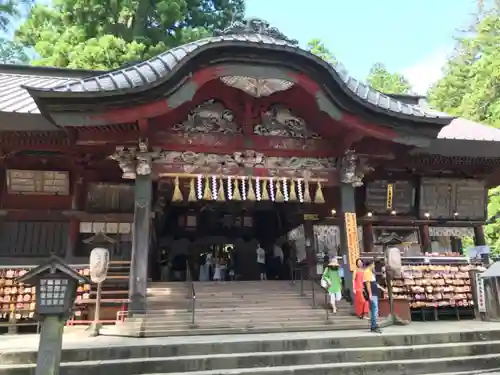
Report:
[{"label": "ornate dark red shrine building with curved gray tiled roof", "polygon": [[[486,245],[498,141],[258,20],[112,71],[1,65],[0,276],[51,253],[85,269],[106,246],[126,288],[104,302],[145,312],[162,256],[179,271],[174,256],[231,245],[252,280],[258,244],[290,243],[314,273],[325,253],[353,269],[390,233],[404,257],[461,258],[464,239]],[[26,295],[2,311],[30,318]]]}]

